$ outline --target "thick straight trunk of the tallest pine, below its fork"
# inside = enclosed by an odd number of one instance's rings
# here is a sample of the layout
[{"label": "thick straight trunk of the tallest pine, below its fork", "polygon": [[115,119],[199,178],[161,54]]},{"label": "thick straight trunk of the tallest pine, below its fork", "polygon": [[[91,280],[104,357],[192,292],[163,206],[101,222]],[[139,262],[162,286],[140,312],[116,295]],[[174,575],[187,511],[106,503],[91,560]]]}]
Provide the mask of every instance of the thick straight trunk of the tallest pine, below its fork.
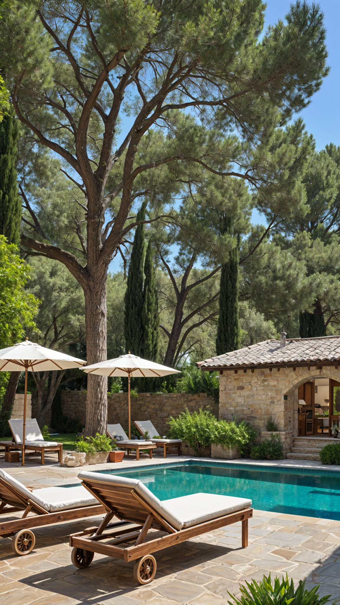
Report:
[{"label": "thick straight trunk of the tallest pine, below its fork", "polygon": [[[99,278],[100,276],[98,276]],[[98,280],[99,281],[99,280]],[[86,348],[88,365],[106,361],[106,272],[105,279],[85,290]],[[106,433],[108,416],[107,376],[88,374],[85,435]]]}]

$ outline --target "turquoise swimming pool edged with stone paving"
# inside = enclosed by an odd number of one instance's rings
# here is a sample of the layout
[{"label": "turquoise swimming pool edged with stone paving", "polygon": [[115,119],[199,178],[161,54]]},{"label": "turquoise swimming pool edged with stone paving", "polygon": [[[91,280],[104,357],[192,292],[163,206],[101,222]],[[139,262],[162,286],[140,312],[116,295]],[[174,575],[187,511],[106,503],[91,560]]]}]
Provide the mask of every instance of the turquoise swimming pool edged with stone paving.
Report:
[{"label": "turquoise swimming pool edged with stone paving", "polygon": [[210,492],[250,498],[253,508],[340,520],[340,474],[188,460],[148,468],[96,471],[139,479],[160,500]]}]

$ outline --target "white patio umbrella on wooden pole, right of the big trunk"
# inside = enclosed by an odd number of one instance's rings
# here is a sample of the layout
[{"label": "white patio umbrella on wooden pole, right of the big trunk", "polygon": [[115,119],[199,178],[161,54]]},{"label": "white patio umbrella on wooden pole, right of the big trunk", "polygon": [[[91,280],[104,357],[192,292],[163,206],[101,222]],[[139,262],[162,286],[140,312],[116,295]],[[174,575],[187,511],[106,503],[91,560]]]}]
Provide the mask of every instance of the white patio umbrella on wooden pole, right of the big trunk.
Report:
[{"label": "white patio umbrella on wooden pole, right of the big trunk", "polygon": [[137,357],[137,355],[120,355],[116,359],[100,361],[98,364],[87,365],[79,368],[87,374],[99,374],[99,376],[126,376],[128,378],[128,407],[129,407],[129,439],[131,439],[131,414],[130,414],[130,379],[132,378],[160,378],[168,374],[180,373],[179,370],[168,368],[166,365],[155,364]]}]

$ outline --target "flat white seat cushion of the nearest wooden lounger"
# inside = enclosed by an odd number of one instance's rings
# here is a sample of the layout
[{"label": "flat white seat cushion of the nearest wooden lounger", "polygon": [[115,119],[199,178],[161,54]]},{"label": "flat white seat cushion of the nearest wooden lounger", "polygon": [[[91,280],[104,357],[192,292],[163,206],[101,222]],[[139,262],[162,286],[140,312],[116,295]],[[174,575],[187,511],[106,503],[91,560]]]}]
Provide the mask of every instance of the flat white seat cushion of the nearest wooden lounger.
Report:
[{"label": "flat white seat cushion of the nearest wooden lounger", "polygon": [[241,508],[252,506],[252,501],[245,498],[236,498],[220,494],[190,494],[171,500],[162,500],[162,504],[183,522],[188,528],[197,523],[203,523],[229,512],[239,511]]}]

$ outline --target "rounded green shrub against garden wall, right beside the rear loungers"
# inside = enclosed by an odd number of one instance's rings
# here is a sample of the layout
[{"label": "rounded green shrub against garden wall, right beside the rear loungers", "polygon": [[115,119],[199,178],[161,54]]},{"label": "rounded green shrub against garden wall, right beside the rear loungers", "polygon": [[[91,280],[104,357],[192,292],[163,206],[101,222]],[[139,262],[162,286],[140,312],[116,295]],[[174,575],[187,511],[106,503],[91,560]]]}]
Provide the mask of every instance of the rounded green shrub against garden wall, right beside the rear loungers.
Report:
[{"label": "rounded green shrub against garden wall, right beside the rear loungers", "polygon": [[171,417],[167,437],[188,442],[197,456],[203,456],[204,448],[215,443],[216,424],[217,419],[209,410],[200,409],[191,414],[186,408],[178,418]]}]

